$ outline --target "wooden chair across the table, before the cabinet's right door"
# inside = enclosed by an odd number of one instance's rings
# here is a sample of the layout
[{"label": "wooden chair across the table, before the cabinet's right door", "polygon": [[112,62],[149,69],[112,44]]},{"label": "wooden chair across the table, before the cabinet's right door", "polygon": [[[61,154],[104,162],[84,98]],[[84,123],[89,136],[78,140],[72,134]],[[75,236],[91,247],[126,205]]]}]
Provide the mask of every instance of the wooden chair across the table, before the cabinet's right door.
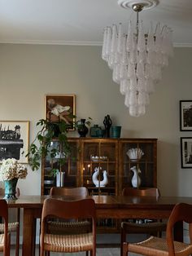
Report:
[{"label": "wooden chair across the table, before the cabinet's right door", "polygon": [[[124,188],[123,196],[155,196],[159,197],[160,192],[158,188]],[[126,241],[126,234],[149,234],[161,236],[161,232],[166,231],[167,224],[162,223],[161,220],[151,219],[137,219],[135,222],[122,222],[121,223],[121,236],[120,236],[120,254],[123,254],[123,244]]]}]

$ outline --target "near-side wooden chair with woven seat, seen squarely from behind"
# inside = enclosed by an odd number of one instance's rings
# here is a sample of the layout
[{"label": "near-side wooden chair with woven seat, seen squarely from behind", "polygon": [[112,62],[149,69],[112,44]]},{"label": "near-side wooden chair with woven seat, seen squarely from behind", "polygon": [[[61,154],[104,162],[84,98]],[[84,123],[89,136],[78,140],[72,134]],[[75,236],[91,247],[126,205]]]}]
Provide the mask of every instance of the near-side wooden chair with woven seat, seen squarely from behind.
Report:
[{"label": "near-side wooden chair with woven seat, seen squarely from behind", "polygon": [[[89,233],[72,235],[55,235],[46,231],[49,218],[88,218],[92,223]],[[44,201],[41,214],[41,256],[44,252],[75,253],[90,251],[96,255],[96,210],[93,199],[87,198],[79,201],[63,201],[47,198]]]}]

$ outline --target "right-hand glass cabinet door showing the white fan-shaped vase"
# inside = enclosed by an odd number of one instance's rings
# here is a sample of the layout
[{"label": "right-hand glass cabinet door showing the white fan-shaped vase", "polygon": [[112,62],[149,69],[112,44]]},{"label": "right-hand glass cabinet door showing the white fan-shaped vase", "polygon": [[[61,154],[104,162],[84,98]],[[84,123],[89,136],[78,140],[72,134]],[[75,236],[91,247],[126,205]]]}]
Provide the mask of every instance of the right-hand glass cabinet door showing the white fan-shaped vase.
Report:
[{"label": "right-hand glass cabinet door showing the white fan-shaped vase", "polygon": [[120,142],[120,194],[123,188],[135,186],[135,169],[139,175],[137,179],[141,180],[139,187],[156,187],[156,139]]}]

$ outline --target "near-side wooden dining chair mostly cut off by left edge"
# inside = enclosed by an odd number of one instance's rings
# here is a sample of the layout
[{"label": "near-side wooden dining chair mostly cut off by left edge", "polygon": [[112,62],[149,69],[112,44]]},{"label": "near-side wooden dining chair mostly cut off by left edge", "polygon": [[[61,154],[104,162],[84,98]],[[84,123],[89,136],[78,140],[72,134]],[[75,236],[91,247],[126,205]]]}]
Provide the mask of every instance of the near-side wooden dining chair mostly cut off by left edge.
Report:
[{"label": "near-side wooden dining chair mostly cut off by left edge", "polygon": [[2,234],[0,234],[0,251],[3,256],[10,256],[10,235],[8,234],[8,206],[7,201],[0,200],[0,216],[3,219]]}]

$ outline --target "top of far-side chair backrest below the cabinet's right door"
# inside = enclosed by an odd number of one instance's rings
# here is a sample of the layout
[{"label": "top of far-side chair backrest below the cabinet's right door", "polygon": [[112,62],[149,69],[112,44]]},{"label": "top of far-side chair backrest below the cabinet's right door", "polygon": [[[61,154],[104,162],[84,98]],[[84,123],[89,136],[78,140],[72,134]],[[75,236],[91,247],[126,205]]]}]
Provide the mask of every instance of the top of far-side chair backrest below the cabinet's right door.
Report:
[{"label": "top of far-side chair backrest below the cabinet's right door", "polygon": [[123,196],[160,196],[158,188],[124,188],[122,191]]}]

